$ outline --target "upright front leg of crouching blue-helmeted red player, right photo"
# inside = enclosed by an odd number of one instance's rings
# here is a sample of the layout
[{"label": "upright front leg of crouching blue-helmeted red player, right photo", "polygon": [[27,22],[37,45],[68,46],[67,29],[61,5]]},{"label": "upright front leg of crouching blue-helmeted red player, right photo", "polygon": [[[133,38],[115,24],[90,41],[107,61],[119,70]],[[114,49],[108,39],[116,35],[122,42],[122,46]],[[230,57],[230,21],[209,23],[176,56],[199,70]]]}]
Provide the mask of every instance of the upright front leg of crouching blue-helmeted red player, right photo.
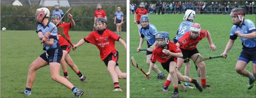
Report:
[{"label": "upright front leg of crouching blue-helmeted red player, right photo", "polygon": [[174,86],[174,93],[172,94],[171,98],[178,98],[179,91],[178,91],[178,77],[175,73],[176,69],[176,62],[170,62],[169,64],[169,73],[172,76],[173,86]]}]

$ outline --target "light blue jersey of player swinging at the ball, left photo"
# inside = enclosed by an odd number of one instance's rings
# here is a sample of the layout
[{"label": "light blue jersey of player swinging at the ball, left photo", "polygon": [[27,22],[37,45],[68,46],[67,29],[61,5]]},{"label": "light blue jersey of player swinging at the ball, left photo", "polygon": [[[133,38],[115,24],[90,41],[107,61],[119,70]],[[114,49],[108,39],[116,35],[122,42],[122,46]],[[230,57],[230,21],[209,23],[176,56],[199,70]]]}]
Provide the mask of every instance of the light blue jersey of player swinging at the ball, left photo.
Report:
[{"label": "light blue jersey of player swinging at the ball, left photo", "polygon": [[[55,24],[53,24],[52,22],[48,22],[46,26],[42,25],[42,24],[38,24],[37,26],[37,32],[42,32],[43,35],[46,34],[46,32],[50,32],[51,29],[55,26]],[[54,28],[54,30],[51,32],[51,35],[48,38],[49,39],[54,39],[54,43],[53,46],[46,46],[45,44],[43,44],[44,49],[43,50],[49,50],[49,49],[53,49],[53,48],[59,48],[59,39],[57,37],[57,27]]]}]

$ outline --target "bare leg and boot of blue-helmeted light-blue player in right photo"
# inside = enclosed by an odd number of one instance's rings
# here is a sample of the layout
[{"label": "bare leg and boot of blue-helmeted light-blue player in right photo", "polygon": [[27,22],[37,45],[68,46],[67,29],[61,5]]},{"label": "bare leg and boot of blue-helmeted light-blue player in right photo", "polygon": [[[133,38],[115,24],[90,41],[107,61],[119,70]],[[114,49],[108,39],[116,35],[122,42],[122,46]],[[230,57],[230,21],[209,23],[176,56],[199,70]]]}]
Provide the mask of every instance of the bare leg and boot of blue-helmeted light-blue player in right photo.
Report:
[{"label": "bare leg and boot of blue-helmeted light-blue player in right photo", "polygon": [[[150,65],[150,58],[151,58],[152,54],[146,55],[146,64],[148,64],[148,66]],[[157,78],[156,79],[162,79],[165,80],[165,75],[162,71],[159,70],[159,68],[156,66],[156,64],[154,64],[153,70],[157,73]]]}]

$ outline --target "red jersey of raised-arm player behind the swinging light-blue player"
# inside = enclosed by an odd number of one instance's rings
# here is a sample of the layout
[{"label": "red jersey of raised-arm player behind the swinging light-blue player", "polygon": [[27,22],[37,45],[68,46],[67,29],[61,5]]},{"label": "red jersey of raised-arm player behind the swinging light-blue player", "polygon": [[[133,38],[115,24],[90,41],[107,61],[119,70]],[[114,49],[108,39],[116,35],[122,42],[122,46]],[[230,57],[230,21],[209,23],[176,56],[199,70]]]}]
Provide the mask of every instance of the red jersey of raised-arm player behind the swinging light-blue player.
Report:
[{"label": "red jersey of raised-arm player behind the swinging light-blue player", "polygon": [[[58,27],[59,26],[63,26],[63,32],[67,36],[67,39],[69,39],[70,41],[69,30],[73,28],[71,27],[71,23],[61,23],[58,25]],[[59,46],[70,45],[69,42],[67,42],[67,40],[64,37],[62,37],[60,34],[58,34],[58,39],[59,39]]]}]

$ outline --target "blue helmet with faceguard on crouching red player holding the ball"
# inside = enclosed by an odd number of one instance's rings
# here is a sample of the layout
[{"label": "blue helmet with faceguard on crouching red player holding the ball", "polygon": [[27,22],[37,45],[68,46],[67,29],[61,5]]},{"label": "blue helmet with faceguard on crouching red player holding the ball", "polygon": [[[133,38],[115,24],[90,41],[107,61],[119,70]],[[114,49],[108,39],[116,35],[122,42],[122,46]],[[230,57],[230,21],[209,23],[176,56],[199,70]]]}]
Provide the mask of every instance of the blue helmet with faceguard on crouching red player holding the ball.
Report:
[{"label": "blue helmet with faceguard on crouching red player holding the ball", "polygon": [[170,39],[168,32],[165,31],[157,32],[155,38],[157,45],[160,47],[166,46],[169,43]]}]

